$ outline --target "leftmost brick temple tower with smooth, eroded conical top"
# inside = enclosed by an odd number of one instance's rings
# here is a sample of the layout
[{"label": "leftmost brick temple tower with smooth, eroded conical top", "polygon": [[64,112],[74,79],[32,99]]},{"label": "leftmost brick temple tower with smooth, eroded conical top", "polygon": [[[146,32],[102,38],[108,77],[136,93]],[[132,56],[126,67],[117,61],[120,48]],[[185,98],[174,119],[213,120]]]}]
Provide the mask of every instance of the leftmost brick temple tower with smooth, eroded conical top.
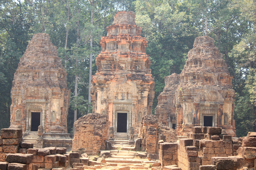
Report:
[{"label": "leftmost brick temple tower with smooth, eroded conical top", "polygon": [[48,34],[35,34],[20,62],[11,90],[11,125],[23,131],[67,133],[70,90],[57,48]]}]

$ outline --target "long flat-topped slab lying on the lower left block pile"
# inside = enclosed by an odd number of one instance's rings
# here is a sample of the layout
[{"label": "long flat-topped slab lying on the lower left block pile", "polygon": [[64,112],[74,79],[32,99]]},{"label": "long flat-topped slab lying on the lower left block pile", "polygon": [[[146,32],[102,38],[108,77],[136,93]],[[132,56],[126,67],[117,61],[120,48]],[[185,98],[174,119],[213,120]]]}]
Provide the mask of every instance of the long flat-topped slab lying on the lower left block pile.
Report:
[{"label": "long flat-topped slab lying on the lower left block pile", "polygon": [[8,153],[5,156],[5,161],[10,163],[29,164],[33,160],[33,154]]}]

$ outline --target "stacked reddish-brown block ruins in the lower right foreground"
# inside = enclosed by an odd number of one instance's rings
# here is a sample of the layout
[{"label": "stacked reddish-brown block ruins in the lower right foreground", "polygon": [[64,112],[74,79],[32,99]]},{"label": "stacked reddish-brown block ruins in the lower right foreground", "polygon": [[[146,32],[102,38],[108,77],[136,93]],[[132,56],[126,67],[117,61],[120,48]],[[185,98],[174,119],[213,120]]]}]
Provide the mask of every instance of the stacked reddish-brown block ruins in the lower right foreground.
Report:
[{"label": "stacked reddish-brown block ruins in the lower right foreground", "polygon": [[[240,139],[221,133],[217,127],[192,127],[187,139],[180,143],[160,143],[159,160],[162,166],[177,164],[182,170],[202,168],[239,169],[253,168],[256,159],[256,132]],[[241,145],[240,145],[241,144]],[[169,147],[177,145],[177,152]],[[237,155],[237,156],[234,156]],[[206,166],[215,165],[215,166]]]}]

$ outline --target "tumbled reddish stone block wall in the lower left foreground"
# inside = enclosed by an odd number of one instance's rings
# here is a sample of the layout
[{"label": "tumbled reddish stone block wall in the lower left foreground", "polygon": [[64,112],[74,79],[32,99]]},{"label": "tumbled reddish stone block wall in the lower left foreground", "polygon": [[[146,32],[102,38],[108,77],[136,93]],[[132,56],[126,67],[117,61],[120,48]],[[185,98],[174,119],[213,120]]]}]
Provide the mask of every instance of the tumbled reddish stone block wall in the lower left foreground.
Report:
[{"label": "tumbled reddish stone block wall in the lower left foreground", "polygon": [[[63,147],[33,148],[32,143],[22,142],[22,129],[1,129],[0,170],[67,169],[73,163],[88,165],[88,158],[80,153],[66,153]],[[82,160],[83,159],[83,160]],[[81,161],[82,160],[82,161]]]}]

